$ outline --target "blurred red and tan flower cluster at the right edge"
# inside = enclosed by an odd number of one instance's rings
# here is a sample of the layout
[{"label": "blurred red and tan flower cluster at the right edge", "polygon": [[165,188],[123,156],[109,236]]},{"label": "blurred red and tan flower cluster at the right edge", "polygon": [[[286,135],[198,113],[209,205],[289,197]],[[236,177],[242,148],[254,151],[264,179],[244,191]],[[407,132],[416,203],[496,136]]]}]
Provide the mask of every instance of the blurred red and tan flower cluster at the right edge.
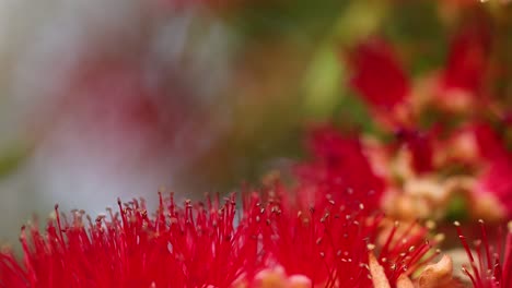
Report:
[{"label": "blurred red and tan flower cluster at the right edge", "polygon": [[368,105],[381,135],[362,135],[371,167],[385,185],[385,211],[442,219],[457,195],[472,218],[512,215],[508,106],[491,97],[490,24],[475,19],[453,35],[445,67],[412,81],[381,37],[347,57],[349,85]]}]

